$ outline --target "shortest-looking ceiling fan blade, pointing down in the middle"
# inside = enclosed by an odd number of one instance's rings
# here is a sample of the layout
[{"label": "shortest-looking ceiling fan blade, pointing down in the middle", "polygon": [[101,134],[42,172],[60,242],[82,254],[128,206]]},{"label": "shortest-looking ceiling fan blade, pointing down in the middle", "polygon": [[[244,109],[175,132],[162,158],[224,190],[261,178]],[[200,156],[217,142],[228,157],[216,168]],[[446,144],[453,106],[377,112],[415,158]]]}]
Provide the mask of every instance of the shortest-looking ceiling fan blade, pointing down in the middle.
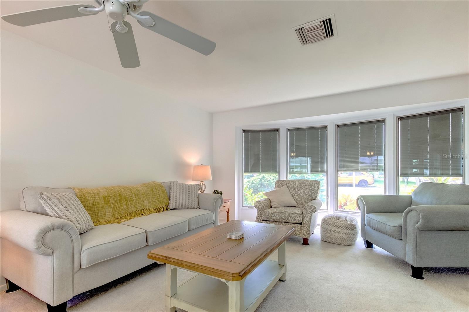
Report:
[{"label": "shortest-looking ceiling fan blade, pointing down in the middle", "polygon": [[134,33],[132,32],[132,26],[129,22],[123,21],[123,23],[128,28],[126,32],[116,31],[117,22],[113,22],[111,24],[117,52],[119,53],[119,59],[121,59],[121,65],[125,68],[139,67],[140,59],[138,58],[138,51],[135,44]]}]

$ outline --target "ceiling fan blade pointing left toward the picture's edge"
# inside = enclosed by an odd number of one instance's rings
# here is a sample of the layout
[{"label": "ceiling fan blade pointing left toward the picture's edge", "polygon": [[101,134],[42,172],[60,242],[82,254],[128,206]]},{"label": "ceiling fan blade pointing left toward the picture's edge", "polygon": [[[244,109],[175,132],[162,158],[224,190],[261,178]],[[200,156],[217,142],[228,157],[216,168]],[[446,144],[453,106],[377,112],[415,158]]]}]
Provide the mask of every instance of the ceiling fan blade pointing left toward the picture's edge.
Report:
[{"label": "ceiling fan blade pointing left toward the picture's edge", "polygon": [[41,10],[27,11],[22,13],[3,15],[1,18],[16,26],[30,26],[45,22],[65,20],[68,18],[95,15],[99,12],[83,14],[78,12],[79,7],[93,7],[88,4],[74,4],[62,7],[49,7]]}]

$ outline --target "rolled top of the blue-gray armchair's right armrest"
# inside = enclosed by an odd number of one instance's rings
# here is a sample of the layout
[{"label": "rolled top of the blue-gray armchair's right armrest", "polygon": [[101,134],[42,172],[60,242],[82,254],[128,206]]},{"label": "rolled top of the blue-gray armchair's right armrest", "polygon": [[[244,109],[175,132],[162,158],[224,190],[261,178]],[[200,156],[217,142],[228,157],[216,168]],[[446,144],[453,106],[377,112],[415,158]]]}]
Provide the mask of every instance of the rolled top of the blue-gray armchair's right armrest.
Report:
[{"label": "rolled top of the blue-gray armchair's right armrest", "polygon": [[[412,213],[416,211],[418,213]],[[412,206],[404,211],[402,228],[408,224],[409,214],[418,218],[417,230],[426,231],[462,231],[469,230],[469,205],[425,205]]]}]

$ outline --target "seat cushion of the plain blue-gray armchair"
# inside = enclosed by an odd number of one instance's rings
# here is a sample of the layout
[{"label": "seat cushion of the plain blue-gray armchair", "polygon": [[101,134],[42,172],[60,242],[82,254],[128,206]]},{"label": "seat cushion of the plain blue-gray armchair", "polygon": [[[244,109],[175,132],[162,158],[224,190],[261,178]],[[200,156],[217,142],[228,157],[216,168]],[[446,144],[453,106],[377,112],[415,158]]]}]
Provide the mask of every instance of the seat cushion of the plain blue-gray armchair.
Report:
[{"label": "seat cushion of the plain blue-gray armchair", "polygon": [[402,239],[403,212],[366,214],[365,224],[393,238]]}]

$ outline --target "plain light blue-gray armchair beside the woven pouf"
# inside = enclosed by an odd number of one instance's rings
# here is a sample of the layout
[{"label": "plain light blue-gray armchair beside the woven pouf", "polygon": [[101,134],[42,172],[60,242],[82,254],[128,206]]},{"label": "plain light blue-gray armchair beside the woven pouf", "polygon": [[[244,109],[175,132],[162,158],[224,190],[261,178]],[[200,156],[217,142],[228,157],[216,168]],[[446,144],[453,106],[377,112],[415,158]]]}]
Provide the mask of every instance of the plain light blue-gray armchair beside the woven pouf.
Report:
[{"label": "plain light blue-gray armchair beside the woven pouf", "polygon": [[424,182],[412,195],[361,195],[361,236],[406,260],[412,277],[424,267],[469,267],[469,185]]}]

